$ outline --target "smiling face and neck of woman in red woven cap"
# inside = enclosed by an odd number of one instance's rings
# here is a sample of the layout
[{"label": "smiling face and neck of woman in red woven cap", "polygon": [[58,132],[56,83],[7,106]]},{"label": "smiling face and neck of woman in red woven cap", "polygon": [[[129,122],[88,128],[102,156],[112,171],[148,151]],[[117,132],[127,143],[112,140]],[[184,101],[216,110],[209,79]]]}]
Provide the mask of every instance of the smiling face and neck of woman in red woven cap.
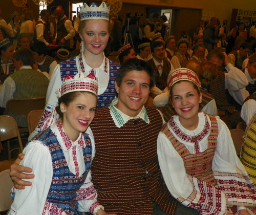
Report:
[{"label": "smiling face and neck of woman in red woven cap", "polygon": [[202,94],[199,94],[195,87],[193,82],[180,81],[171,88],[173,107],[184,127],[198,122],[198,110],[199,103],[202,102]]}]

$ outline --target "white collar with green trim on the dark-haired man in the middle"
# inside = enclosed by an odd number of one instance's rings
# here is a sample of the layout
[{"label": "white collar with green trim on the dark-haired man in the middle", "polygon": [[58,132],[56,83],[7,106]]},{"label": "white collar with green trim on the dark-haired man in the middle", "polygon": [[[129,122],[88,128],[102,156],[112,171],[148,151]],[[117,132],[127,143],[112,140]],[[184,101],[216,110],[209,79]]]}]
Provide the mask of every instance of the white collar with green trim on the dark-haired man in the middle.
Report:
[{"label": "white collar with green trim on the dark-haired man in the middle", "polygon": [[147,124],[150,123],[150,119],[148,119],[147,116],[147,112],[145,109],[145,106],[143,106],[142,110],[140,111],[140,113],[136,116],[136,117],[130,117],[127,116],[126,114],[124,114],[123,112],[121,112],[120,110],[118,110],[115,107],[115,104],[117,104],[118,99],[115,98],[112,103],[109,106],[110,109],[110,114],[112,116],[112,119],[114,120],[115,124],[117,127],[122,127],[127,121],[131,120],[131,119],[138,119],[141,118],[142,120],[144,120]]}]

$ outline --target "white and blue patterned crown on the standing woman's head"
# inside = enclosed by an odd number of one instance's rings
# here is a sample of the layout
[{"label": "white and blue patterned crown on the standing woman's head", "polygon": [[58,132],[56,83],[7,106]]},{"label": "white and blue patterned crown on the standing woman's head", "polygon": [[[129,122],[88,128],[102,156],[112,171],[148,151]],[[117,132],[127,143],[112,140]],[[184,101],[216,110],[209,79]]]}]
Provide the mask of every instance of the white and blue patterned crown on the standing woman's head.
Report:
[{"label": "white and blue patterned crown on the standing woman's head", "polygon": [[110,20],[110,6],[106,6],[106,4],[102,2],[99,7],[95,3],[92,3],[89,7],[84,3],[80,10],[80,18],[81,21],[87,19]]}]

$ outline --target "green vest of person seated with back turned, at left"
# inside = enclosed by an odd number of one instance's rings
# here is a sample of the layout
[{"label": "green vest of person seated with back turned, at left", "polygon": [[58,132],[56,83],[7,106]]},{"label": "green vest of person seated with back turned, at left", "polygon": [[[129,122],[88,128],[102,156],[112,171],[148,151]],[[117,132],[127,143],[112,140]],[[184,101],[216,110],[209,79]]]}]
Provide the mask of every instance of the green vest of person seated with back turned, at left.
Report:
[{"label": "green vest of person seated with back turned, at left", "polygon": [[[15,92],[13,98],[37,98],[46,96],[49,80],[48,78],[33,69],[22,69],[11,74],[10,77],[15,82]],[[27,116],[20,116],[10,113],[18,126],[28,127]]]}]

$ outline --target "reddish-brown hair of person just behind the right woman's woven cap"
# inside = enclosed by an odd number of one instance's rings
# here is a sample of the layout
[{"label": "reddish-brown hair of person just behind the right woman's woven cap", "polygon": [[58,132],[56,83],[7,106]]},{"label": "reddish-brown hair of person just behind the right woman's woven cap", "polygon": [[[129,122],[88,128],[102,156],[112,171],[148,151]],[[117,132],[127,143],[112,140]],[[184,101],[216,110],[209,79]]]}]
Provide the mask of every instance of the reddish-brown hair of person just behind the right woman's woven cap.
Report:
[{"label": "reddish-brown hair of person just behind the right woman's woven cap", "polygon": [[218,77],[218,68],[214,63],[205,62],[201,65],[198,77],[201,87],[209,91],[211,82]]}]

